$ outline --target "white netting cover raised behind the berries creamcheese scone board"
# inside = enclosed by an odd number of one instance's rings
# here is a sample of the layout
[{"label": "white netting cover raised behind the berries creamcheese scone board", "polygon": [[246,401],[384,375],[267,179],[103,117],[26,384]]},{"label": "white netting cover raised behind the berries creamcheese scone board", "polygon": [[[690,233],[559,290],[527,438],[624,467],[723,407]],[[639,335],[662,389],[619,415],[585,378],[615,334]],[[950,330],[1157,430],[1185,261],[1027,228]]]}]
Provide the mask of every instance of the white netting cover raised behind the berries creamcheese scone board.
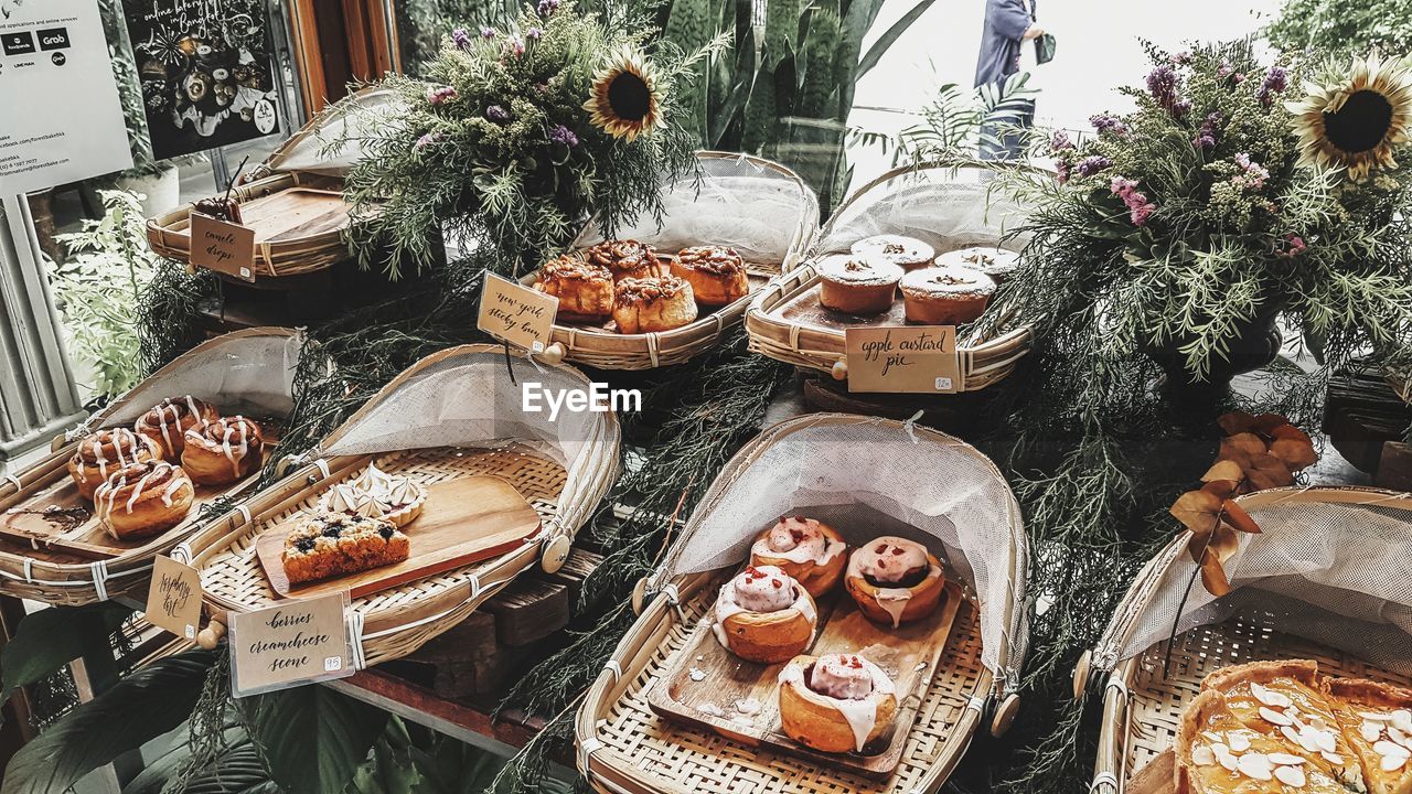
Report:
[{"label": "white netting cover raised behind the berries creamcheese scone board", "polygon": [[537,367],[521,357],[514,359],[514,379],[498,350],[465,352],[421,366],[329,437],[323,454],[370,455],[517,441],[544,452],[573,478],[582,456],[590,452],[589,442],[602,438],[606,415],[561,410],[551,421],[548,408],[522,410],[521,384],[538,383],[548,391],[587,390],[589,380],[575,370]]}]

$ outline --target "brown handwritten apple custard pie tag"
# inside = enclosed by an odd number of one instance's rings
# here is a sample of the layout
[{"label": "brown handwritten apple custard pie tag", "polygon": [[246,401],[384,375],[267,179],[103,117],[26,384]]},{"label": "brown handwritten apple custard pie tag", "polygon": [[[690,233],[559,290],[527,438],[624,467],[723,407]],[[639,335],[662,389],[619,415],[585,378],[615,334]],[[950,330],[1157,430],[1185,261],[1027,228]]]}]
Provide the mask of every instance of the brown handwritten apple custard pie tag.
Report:
[{"label": "brown handwritten apple custard pie tag", "polygon": [[849,391],[952,394],[960,391],[956,326],[908,325],[844,331]]}]

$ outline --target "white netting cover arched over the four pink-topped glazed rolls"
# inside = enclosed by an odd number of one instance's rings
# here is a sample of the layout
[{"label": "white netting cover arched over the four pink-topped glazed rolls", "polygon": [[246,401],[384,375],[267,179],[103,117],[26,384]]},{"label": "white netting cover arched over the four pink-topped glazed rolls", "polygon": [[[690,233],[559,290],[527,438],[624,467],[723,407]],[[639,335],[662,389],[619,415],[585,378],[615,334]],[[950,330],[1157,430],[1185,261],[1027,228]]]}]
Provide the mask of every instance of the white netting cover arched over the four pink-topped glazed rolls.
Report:
[{"label": "white netting cover arched over the four pink-topped glazed rolls", "polygon": [[758,533],[794,513],[833,526],[850,545],[884,534],[928,545],[977,595],[981,658],[1012,680],[1027,643],[1027,545],[1015,497],[986,456],[881,420],[805,427],[712,487],[665,572],[738,565]]}]

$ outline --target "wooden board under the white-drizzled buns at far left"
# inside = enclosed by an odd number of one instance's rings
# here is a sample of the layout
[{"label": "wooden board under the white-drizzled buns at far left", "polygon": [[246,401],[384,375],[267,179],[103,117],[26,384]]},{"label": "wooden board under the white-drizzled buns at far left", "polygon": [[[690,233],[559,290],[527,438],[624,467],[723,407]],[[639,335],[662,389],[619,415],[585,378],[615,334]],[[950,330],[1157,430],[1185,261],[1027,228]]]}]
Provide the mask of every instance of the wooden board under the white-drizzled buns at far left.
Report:
[{"label": "wooden board under the white-drizzled buns at far left", "polygon": [[[278,444],[278,428],[264,421],[261,427],[267,431],[263,451],[263,462],[267,462],[270,451]],[[117,540],[107,534],[103,523],[93,516],[93,502],[79,494],[79,487],[73,483],[66,468],[59,469],[56,476],[58,479],[48,487],[41,487],[30,499],[0,514],[0,540],[20,544],[31,551],[56,555],[55,561],[62,562],[68,558],[113,559],[136,548],[162,541],[172,533],[185,533],[189,528],[188,521],[199,514],[203,504],[243,492],[260,479],[260,472],[229,485],[196,485],[196,496],[192,499],[186,521],[165,533],[131,540]]]}]

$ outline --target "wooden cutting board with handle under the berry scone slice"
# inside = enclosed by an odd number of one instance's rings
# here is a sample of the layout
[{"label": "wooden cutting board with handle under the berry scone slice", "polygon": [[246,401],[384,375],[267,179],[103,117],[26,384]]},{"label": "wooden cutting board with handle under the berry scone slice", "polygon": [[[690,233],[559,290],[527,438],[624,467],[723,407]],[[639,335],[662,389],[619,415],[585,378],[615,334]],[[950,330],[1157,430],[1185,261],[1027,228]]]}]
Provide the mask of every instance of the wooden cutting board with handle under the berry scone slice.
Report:
[{"label": "wooden cutting board with handle under the berry scone slice", "polygon": [[376,593],[520,548],[539,531],[539,514],[505,480],[491,476],[446,480],[426,489],[422,514],[402,527],[411,545],[407,559],[371,571],[291,585],[280,555],[285,537],[301,519],[302,513],[295,514],[256,540],[260,565],[270,586],[282,598],[312,598],[342,591],[349,591],[350,598]]}]

